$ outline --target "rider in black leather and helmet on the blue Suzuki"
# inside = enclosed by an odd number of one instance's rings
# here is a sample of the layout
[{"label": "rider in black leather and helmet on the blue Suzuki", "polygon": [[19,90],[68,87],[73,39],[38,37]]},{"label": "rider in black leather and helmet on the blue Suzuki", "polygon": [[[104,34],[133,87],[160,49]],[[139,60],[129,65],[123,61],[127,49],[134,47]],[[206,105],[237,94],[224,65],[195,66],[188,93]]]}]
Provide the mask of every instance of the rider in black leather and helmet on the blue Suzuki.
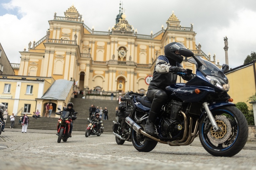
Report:
[{"label": "rider in black leather and helmet on the blue Suzuki", "polygon": [[[147,97],[152,102],[149,117],[145,125],[145,132],[153,135],[154,123],[162,106],[168,99],[166,87],[176,83],[177,72],[185,72],[181,66],[183,57],[179,54],[179,48],[186,48],[182,43],[172,42],[164,47],[164,56],[157,58],[153,72],[153,78],[149,83]],[[181,76],[184,80],[190,78]]]}]

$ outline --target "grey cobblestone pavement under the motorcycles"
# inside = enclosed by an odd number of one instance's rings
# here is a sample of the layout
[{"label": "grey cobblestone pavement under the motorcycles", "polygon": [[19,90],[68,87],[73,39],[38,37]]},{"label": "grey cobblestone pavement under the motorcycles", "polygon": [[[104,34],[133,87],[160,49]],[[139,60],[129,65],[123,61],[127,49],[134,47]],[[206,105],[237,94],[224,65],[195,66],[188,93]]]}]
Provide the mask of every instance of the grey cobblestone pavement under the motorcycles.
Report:
[{"label": "grey cobblestone pavement under the motorcycles", "polygon": [[55,133],[33,129],[21,133],[6,128],[0,135],[0,169],[256,169],[255,150],[243,149],[233,157],[214,157],[195,140],[191,146],[158,143],[154,150],[143,153],[132,142],[117,145],[110,133],[86,138],[83,132],[74,131],[72,138],[61,143],[57,143]]}]

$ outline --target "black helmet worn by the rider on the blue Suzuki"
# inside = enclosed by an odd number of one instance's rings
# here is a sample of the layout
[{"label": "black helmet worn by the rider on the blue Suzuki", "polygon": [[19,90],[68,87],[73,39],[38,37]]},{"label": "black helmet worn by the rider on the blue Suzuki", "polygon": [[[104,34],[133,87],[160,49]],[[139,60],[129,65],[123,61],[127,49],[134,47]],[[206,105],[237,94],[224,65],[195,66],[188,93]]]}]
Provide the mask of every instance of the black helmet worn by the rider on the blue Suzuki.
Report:
[{"label": "black helmet worn by the rider on the blue Suzuki", "polygon": [[182,43],[172,42],[164,47],[164,55],[178,63],[183,61],[183,57],[180,54],[175,54],[176,50],[180,48],[186,48]]}]

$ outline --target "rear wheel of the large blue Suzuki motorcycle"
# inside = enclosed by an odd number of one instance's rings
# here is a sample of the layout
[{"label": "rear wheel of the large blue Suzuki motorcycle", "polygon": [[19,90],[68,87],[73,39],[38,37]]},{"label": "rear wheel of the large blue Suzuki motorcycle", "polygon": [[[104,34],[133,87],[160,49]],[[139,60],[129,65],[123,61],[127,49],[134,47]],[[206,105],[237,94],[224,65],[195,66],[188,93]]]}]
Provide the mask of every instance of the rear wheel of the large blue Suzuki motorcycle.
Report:
[{"label": "rear wheel of the large blue Suzuki motorcycle", "polygon": [[158,143],[157,141],[145,140],[145,136],[137,134],[137,132],[134,129],[132,130],[131,138],[133,146],[139,152],[150,152],[156,147]]}]

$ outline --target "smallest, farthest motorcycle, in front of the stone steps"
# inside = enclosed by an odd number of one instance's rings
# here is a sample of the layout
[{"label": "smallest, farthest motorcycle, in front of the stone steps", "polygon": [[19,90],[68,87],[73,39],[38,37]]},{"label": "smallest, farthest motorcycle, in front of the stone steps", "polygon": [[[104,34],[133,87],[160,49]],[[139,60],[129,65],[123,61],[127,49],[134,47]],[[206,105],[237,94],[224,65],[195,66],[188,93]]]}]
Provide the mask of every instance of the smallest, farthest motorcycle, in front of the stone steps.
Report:
[{"label": "smallest, farthest motorcycle, in front of the stone steps", "polygon": [[[100,122],[96,122],[96,121],[90,120],[89,118],[87,118],[87,119],[88,119],[89,125],[85,130],[85,137],[88,137],[90,135],[100,136],[101,133],[103,133],[103,128],[104,128],[104,127],[102,127],[102,125],[103,125],[102,120]],[[96,126],[100,127],[99,132],[96,132]]]}]

